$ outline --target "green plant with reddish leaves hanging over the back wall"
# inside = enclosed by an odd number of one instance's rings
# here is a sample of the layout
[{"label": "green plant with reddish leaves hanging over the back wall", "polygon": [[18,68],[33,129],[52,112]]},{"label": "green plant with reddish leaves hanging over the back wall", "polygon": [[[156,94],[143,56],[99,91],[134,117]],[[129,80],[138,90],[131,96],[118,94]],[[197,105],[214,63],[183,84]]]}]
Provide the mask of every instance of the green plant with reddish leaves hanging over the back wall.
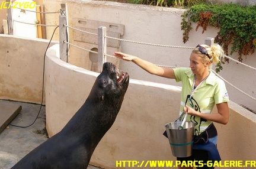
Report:
[{"label": "green plant with reddish leaves hanging over the back wall", "polygon": [[255,51],[256,5],[247,7],[235,4],[194,5],[181,17],[184,43],[188,41],[189,32],[192,30],[191,22],[195,22],[197,23],[196,31],[201,27],[202,33],[209,26],[219,29],[215,43],[222,45],[226,55],[228,55],[229,45],[231,45],[230,54],[238,52],[239,61],[243,60],[242,55],[247,56]]}]

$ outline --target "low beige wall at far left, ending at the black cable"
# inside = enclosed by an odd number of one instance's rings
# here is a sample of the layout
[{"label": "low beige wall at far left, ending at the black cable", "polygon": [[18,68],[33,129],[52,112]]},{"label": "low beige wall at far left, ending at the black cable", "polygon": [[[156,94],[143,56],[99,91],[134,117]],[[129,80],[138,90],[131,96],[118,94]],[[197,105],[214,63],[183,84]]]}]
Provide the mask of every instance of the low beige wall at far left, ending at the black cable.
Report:
[{"label": "low beige wall at far left, ending at the black cable", "polygon": [[48,43],[49,40],[0,34],[0,99],[41,103]]}]

